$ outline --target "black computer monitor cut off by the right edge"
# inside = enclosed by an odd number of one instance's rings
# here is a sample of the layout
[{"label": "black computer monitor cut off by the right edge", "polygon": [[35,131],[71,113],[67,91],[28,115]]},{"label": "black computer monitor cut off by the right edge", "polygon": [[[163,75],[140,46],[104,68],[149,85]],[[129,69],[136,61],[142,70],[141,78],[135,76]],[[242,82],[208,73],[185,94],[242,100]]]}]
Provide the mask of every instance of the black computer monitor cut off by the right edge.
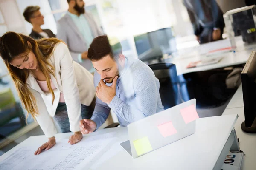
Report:
[{"label": "black computer monitor cut off by the right edge", "polygon": [[250,54],[241,73],[241,79],[245,117],[241,128],[247,133],[256,133],[256,51]]}]

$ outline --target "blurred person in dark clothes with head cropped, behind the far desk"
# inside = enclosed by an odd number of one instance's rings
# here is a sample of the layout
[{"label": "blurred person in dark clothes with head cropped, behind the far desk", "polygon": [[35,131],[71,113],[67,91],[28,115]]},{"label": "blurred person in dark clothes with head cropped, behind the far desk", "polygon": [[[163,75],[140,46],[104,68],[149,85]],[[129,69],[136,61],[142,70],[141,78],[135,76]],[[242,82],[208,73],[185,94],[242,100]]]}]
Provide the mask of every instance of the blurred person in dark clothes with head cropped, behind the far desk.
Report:
[{"label": "blurred person in dark clothes with head cropped, behind the far desk", "polygon": [[215,0],[183,0],[183,3],[201,44],[222,39],[225,23]]}]

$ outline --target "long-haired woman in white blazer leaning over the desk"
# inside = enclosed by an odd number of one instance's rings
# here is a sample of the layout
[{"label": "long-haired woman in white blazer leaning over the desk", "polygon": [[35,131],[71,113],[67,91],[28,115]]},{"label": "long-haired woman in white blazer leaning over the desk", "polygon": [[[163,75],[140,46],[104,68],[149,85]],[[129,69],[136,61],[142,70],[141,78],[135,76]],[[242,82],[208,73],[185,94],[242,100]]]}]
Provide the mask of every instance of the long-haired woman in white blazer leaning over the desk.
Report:
[{"label": "long-haired woman in white blazer leaning over the desk", "polygon": [[36,154],[56,144],[55,125],[82,139],[79,120],[90,119],[95,105],[93,76],[72,60],[67,45],[56,38],[34,40],[7,32],[0,37],[0,56],[12,77],[23,107],[37,120],[48,141]]}]

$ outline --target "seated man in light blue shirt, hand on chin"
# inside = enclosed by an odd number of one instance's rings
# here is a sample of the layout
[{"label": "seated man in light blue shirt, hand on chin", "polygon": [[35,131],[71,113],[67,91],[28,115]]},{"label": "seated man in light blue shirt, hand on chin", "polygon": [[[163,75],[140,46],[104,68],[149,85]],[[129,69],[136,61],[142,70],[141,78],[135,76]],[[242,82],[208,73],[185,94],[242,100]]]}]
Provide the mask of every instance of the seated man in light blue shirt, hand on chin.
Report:
[{"label": "seated man in light blue shirt, hand on chin", "polygon": [[[116,46],[116,45],[115,45]],[[138,59],[128,59],[121,45],[112,51],[107,36],[93,39],[88,58],[96,69],[96,107],[91,119],[80,121],[83,134],[97,130],[108,118],[110,109],[121,126],[163,111],[159,81],[154,72]]]}]

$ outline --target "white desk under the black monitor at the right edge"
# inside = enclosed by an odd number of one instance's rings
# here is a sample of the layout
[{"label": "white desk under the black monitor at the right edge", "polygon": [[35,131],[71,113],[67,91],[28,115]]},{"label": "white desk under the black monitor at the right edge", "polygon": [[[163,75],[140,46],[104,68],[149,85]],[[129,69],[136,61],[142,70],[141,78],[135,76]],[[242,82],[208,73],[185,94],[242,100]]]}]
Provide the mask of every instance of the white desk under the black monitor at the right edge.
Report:
[{"label": "white desk under the black monitor at the right edge", "polygon": [[241,123],[244,121],[244,104],[242,96],[242,86],[238,88],[236,94],[230,100],[222,115],[238,114],[239,118],[236,121],[236,135],[239,138],[240,149],[245,153],[243,170],[256,169],[256,134],[245,133],[241,129]]}]

